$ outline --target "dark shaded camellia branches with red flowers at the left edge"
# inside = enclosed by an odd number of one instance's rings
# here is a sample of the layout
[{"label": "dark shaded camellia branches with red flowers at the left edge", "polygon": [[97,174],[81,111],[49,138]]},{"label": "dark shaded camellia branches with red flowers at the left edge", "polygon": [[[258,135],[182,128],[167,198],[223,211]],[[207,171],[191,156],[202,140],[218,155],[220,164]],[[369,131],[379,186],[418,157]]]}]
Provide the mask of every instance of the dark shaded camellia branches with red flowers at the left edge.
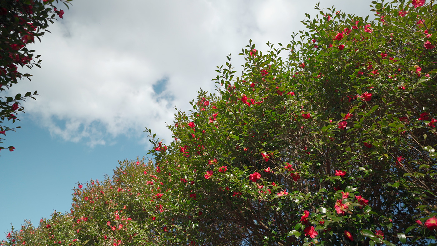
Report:
[{"label": "dark shaded camellia branches with red flowers at the left edge", "polygon": [[[45,28],[53,23],[55,15],[60,18],[64,10],[57,10],[55,3],[67,3],[72,0],[0,0],[0,93],[5,94],[7,90],[18,83],[18,80],[28,78],[31,74],[20,73],[18,66],[28,67],[40,66],[39,55],[34,56],[35,50],[29,50],[28,44],[40,40],[44,35]],[[15,128],[5,126],[5,121],[19,120],[17,112],[23,111],[20,101],[28,98],[35,99],[37,92],[27,92],[24,95],[17,94],[14,97],[0,97],[0,135],[5,136],[8,131]],[[8,124],[7,124],[8,125]],[[0,137],[0,143],[3,138]],[[0,150],[5,149],[0,146]],[[7,147],[10,151],[15,148]]]}]

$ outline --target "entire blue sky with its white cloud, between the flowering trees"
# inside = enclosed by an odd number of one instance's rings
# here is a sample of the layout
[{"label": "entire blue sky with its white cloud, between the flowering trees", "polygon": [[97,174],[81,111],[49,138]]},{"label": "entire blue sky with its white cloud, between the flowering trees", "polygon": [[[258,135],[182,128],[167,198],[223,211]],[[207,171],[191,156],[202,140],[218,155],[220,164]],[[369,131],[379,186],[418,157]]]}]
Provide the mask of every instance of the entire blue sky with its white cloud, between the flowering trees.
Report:
[{"label": "entire blue sky with its white cloud, between the flowering trees", "polygon": [[[32,45],[42,68],[7,92],[38,90],[22,103],[21,126],[0,154],[0,240],[11,223],[38,225],[69,211],[72,188],[112,175],[118,160],[142,158],[151,128],[168,142],[174,107],[189,110],[201,89],[214,92],[216,66],[249,44],[287,44],[318,0],[73,0]],[[371,15],[370,0],[320,0],[347,14]],[[320,15],[320,14],[319,14]],[[320,17],[320,16],[319,16]],[[373,18],[372,18],[373,19]],[[28,72],[23,70],[23,72]],[[238,74],[238,73],[237,73]],[[4,96],[4,95],[0,95]],[[77,186],[77,185],[76,185]]]}]

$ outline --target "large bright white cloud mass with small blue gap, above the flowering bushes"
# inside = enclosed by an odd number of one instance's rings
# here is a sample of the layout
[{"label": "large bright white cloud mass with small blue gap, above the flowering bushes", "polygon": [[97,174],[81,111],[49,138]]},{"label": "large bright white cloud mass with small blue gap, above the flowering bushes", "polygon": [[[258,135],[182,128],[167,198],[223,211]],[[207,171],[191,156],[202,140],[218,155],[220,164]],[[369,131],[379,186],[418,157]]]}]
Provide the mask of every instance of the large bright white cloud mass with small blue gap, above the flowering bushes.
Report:
[{"label": "large bright white cloud mass with small blue gap, above the flowering bushes", "polygon": [[[330,0],[367,14],[367,1]],[[304,12],[316,13],[316,1],[120,1],[75,0],[64,20],[35,44],[42,69],[32,82],[20,82],[12,93],[38,90],[26,112],[51,134],[90,146],[117,135],[144,137],[144,127],[170,139],[164,122],[173,121],[173,106],[187,102],[200,87],[212,91],[215,66],[232,64],[250,38],[257,49],[267,41],[287,43],[303,28]],[[355,8],[355,9],[354,9]],[[362,10],[364,9],[364,10]],[[312,17],[315,17],[312,14]],[[158,97],[153,85],[168,78]]]}]

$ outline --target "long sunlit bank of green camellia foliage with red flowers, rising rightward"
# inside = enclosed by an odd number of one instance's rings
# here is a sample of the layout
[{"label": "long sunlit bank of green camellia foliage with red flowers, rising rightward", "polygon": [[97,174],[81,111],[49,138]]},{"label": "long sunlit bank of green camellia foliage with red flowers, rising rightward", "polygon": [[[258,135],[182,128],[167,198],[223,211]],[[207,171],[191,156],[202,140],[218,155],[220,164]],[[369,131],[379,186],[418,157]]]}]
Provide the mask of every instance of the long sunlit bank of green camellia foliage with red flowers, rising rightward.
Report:
[{"label": "long sunlit bank of green camellia foliage with red flowers, rising rightward", "polygon": [[[153,163],[74,189],[3,245],[436,245],[435,1],[335,9],[177,111]],[[286,52],[286,55],[283,55]]]}]

